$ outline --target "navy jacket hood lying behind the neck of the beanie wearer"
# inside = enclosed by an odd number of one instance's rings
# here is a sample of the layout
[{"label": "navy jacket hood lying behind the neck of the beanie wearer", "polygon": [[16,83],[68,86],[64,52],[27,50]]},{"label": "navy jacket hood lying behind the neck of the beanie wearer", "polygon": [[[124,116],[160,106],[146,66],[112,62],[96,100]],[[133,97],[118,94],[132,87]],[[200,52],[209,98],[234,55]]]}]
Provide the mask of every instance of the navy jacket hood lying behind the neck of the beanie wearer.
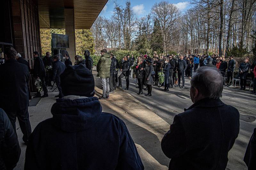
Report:
[{"label": "navy jacket hood lying behind the neck of the beanie wearer", "polygon": [[65,96],[56,99],[51,112],[57,128],[76,132],[91,128],[100,117],[102,107],[97,97]]}]

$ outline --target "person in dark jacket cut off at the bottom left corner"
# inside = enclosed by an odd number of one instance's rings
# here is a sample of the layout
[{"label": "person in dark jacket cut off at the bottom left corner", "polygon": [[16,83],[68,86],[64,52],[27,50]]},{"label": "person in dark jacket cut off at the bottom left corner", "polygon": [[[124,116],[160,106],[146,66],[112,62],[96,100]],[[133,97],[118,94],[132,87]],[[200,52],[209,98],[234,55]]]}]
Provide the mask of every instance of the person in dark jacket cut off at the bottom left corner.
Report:
[{"label": "person in dark jacket cut off at the bottom left corner", "polygon": [[20,158],[20,145],[9,118],[1,108],[0,134],[0,169],[12,170]]}]

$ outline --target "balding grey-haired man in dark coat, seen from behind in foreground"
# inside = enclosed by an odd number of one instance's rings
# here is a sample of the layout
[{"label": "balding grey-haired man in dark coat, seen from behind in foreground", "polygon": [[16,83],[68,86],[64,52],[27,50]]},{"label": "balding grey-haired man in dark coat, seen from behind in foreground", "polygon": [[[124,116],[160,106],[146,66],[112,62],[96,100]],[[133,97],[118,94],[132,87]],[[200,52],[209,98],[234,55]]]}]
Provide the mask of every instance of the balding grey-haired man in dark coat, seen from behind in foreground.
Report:
[{"label": "balding grey-haired man in dark coat, seen from behind in foreground", "polygon": [[164,154],[171,158],[169,169],[226,168],[228,151],[239,133],[239,112],[220,100],[222,90],[217,68],[196,70],[190,87],[194,104],[174,117],[161,142]]}]

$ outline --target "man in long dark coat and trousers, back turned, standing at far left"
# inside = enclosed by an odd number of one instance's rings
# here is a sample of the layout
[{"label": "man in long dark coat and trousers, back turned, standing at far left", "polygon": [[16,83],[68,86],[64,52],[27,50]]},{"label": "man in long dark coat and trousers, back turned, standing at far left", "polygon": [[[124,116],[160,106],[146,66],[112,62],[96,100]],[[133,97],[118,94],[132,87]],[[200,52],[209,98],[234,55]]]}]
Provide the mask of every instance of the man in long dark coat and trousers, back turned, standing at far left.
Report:
[{"label": "man in long dark coat and trousers, back turned, standing at far left", "polygon": [[6,112],[14,131],[18,117],[22,139],[27,144],[31,134],[28,114],[28,67],[15,60],[17,52],[13,47],[7,47],[4,53],[6,62],[0,67],[0,108]]}]

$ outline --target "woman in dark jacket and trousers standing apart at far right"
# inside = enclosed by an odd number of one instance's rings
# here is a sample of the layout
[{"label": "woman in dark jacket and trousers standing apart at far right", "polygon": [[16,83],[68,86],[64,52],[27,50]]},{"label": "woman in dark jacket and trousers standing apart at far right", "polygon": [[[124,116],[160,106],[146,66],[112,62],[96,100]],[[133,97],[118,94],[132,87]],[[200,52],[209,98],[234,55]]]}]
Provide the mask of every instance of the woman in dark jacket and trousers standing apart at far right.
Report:
[{"label": "woman in dark jacket and trousers standing apart at far right", "polygon": [[240,77],[240,86],[241,90],[245,90],[246,86],[246,79],[247,79],[247,73],[249,72],[249,69],[251,67],[251,64],[249,63],[249,58],[246,57],[244,59],[244,62],[240,64],[238,70],[239,70],[239,77]]}]

